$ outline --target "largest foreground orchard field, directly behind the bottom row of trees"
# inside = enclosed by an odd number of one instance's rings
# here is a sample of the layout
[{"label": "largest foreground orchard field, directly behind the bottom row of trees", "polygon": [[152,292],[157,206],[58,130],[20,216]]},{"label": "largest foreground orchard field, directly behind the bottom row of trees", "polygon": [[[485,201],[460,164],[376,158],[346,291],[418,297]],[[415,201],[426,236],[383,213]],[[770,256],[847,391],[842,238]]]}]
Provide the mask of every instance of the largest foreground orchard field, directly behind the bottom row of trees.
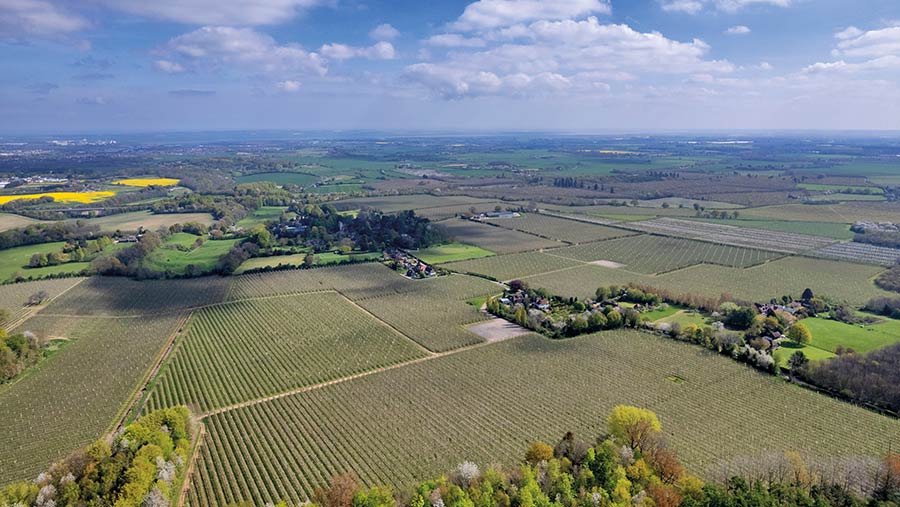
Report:
[{"label": "largest foreground orchard field, directly behind the bottom row of trees", "polygon": [[[689,344],[628,331],[530,335],[211,416],[189,505],[299,503],[347,471],[407,486],[465,460],[512,465],[532,440],[569,430],[593,440],[617,404],[656,412],[701,474],[769,451],[879,456],[900,445],[894,419]],[[768,426],[779,431],[758,431]]]}]

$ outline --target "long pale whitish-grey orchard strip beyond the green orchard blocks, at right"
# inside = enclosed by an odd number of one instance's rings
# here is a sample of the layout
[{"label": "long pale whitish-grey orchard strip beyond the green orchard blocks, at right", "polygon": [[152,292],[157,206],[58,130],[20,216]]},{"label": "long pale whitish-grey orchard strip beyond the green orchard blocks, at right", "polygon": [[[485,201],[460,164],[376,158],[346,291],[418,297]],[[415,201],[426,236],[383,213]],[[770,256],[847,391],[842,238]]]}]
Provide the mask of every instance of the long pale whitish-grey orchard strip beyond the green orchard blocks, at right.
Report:
[{"label": "long pale whitish-grey orchard strip beyond the green orchard blocks, at right", "polygon": [[700,239],[725,245],[745,246],[785,253],[806,252],[834,243],[834,240],[805,234],[711,224],[678,218],[641,220],[623,223],[621,226],[664,236]]}]

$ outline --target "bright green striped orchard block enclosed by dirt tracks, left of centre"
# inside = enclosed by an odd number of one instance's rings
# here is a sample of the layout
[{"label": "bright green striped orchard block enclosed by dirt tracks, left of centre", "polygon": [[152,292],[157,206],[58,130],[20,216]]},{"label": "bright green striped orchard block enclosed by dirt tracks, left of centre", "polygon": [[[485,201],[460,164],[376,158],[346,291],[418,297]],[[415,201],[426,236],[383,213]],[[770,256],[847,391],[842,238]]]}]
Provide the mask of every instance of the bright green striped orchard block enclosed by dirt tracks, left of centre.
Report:
[{"label": "bright green striped orchard block enclosed by dirt tracks, left of centre", "polygon": [[205,412],[422,355],[334,292],[226,303],[194,314],[148,403]]}]

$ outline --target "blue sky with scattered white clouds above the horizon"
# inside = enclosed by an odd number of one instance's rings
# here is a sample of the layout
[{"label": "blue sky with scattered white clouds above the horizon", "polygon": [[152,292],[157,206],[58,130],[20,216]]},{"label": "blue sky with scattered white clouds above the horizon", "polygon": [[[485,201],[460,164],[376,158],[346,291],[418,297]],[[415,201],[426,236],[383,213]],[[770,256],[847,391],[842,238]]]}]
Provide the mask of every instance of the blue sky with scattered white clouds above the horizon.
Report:
[{"label": "blue sky with scattered white clouds above the horizon", "polygon": [[0,0],[0,132],[900,130],[898,0]]}]

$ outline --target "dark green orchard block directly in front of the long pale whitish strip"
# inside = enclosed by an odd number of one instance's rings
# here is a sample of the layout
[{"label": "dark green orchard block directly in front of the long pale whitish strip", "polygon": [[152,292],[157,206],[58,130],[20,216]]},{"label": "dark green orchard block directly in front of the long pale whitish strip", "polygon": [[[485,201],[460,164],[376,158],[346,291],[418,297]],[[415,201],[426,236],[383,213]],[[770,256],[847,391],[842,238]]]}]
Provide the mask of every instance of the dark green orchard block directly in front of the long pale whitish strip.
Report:
[{"label": "dark green orchard block directly in front of the long pale whitish strip", "polygon": [[554,250],[584,262],[611,260],[638,273],[664,273],[694,264],[745,268],[780,256],[774,252],[663,236],[631,236]]}]

